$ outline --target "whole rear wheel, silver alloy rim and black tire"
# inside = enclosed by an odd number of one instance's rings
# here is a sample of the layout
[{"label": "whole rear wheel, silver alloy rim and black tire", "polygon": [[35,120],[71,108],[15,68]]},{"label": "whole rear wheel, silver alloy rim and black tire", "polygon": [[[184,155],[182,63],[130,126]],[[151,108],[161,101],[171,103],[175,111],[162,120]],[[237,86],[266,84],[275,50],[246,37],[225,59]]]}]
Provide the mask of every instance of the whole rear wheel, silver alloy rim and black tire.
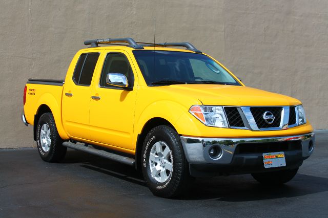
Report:
[{"label": "whole rear wheel, silver alloy rim and black tire", "polygon": [[51,113],[41,115],[37,123],[36,145],[44,161],[59,162],[65,157],[67,147],[63,146]]}]

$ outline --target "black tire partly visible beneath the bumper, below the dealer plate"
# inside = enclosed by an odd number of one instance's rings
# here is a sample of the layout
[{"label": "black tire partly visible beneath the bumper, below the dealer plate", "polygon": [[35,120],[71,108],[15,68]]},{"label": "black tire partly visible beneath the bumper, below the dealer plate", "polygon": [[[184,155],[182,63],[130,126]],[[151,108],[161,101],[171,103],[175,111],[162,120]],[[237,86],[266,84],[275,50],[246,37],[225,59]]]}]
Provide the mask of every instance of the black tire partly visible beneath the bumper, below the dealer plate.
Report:
[{"label": "black tire partly visible beneath the bumper, below the dealer plate", "polygon": [[291,181],[295,177],[297,171],[298,168],[274,172],[252,173],[252,177],[263,185],[281,185]]}]

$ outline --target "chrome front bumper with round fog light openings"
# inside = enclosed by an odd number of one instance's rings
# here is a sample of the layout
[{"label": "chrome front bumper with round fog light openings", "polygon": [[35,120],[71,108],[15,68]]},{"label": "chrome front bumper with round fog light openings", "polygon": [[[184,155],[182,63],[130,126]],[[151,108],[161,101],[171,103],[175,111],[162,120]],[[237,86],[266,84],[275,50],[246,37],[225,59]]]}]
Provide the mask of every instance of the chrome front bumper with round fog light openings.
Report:
[{"label": "chrome front bumper with round fog light openings", "polygon": [[[230,164],[233,161],[235,150],[241,143],[274,143],[283,141],[300,141],[302,149],[302,157],[300,160],[308,158],[314,149],[315,137],[314,133],[282,136],[270,138],[197,138],[181,136],[183,150],[190,164]],[[222,154],[212,159],[209,151],[213,146],[219,146]],[[312,149],[309,149],[309,147]],[[245,158],[258,159],[261,154],[248,154]]]}]

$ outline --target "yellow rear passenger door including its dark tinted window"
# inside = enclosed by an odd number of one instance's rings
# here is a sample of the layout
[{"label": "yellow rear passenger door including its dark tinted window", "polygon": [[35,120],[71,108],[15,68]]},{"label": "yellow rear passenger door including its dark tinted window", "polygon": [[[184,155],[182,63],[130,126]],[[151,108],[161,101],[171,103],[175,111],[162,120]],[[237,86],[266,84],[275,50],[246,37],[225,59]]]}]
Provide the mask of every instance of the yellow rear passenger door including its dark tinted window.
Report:
[{"label": "yellow rear passenger door including its dark tinted window", "polygon": [[71,137],[89,139],[91,80],[100,53],[82,53],[71,78],[66,78],[63,96],[63,123]]}]

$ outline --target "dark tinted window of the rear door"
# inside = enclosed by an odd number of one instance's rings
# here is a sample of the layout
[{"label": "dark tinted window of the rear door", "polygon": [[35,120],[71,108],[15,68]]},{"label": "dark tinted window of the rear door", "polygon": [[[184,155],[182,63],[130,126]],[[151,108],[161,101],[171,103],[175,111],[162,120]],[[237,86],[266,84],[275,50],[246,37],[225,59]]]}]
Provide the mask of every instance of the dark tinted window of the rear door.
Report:
[{"label": "dark tinted window of the rear door", "polygon": [[77,85],[90,85],[99,53],[81,54],[73,73],[73,81]]}]

